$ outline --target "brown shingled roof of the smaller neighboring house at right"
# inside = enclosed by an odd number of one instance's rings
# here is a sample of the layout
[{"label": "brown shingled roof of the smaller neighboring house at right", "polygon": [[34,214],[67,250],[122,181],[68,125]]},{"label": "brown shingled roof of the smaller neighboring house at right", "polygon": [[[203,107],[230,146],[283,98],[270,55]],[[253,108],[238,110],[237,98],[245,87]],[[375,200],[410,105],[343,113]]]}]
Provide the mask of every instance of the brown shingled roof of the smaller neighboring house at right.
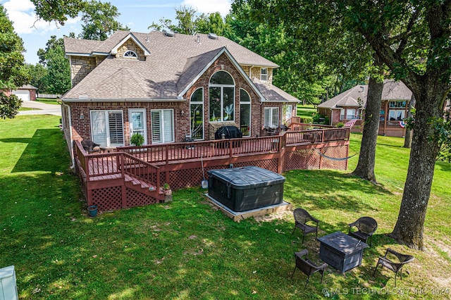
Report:
[{"label": "brown shingled roof of the smaller neighboring house at right", "polygon": [[[352,107],[359,106],[359,99],[362,101],[363,106],[366,106],[366,98],[368,94],[368,85],[356,85],[352,89],[348,89],[341,94],[329,99],[322,104],[319,104],[319,108],[340,108],[343,106]],[[404,83],[394,80],[385,80],[382,90],[382,100],[405,100],[410,101],[412,92]]]}]

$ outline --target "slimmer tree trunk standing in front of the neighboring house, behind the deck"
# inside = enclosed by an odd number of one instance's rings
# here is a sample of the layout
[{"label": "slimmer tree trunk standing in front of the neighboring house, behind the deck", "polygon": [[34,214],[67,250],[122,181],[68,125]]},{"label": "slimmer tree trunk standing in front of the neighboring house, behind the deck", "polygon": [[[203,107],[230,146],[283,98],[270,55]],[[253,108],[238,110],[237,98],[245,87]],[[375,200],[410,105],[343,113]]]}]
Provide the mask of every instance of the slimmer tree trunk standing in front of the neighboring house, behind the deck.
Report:
[{"label": "slimmer tree trunk standing in front of the neighboring house, behind the deck", "polygon": [[383,82],[377,82],[374,77],[369,78],[368,96],[364,121],[364,133],[360,146],[359,162],[352,175],[376,183],[374,174],[374,160],[376,158],[376,142],[379,130],[379,115],[381,113]]}]

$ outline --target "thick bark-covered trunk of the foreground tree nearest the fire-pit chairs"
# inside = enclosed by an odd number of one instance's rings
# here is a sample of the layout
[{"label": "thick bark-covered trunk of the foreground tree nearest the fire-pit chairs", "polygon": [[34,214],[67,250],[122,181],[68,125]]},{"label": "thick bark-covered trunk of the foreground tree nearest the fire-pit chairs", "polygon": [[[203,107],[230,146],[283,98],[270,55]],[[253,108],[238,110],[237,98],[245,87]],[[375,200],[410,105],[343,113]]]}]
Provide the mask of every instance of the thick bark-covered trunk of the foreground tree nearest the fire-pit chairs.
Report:
[{"label": "thick bark-covered trunk of the foreground tree nearest the fire-pit chairs", "polygon": [[[440,76],[440,74],[438,74]],[[409,169],[404,185],[400,213],[390,237],[414,249],[424,249],[423,232],[426,208],[431,194],[438,142],[429,142],[433,127],[428,119],[443,115],[447,85],[437,84],[438,77],[428,77],[412,92],[416,99],[416,113]]]}]

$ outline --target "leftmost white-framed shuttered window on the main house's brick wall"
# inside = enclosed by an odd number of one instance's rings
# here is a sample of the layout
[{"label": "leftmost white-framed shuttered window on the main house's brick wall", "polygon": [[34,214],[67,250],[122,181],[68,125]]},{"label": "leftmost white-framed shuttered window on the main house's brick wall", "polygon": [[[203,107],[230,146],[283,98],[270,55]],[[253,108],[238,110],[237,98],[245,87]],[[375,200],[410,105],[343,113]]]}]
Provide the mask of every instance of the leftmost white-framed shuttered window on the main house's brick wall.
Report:
[{"label": "leftmost white-framed shuttered window on the main house's brick wall", "polygon": [[101,146],[124,146],[123,112],[90,111],[92,142]]}]

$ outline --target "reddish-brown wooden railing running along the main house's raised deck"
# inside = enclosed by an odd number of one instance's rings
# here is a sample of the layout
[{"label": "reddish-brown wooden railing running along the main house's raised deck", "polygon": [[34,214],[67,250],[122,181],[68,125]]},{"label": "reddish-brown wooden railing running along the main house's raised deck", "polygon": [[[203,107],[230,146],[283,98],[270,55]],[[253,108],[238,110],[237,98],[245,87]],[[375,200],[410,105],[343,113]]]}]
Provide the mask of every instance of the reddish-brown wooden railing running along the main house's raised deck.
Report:
[{"label": "reddish-brown wooden railing running along the main house's raised deck", "polygon": [[[297,125],[296,125],[297,126]],[[299,123],[302,126],[309,124]],[[316,125],[315,125],[316,126]],[[284,132],[269,137],[244,137],[242,139],[216,139],[201,142],[183,142],[145,146],[121,146],[116,152],[87,154],[76,141],[76,153],[87,180],[92,177],[120,175],[125,173],[140,177],[151,185],[159,185],[158,165],[175,161],[198,161],[199,159],[232,158],[252,154],[278,154],[285,146],[308,143],[343,141],[350,138],[347,127],[330,127]]]}]

